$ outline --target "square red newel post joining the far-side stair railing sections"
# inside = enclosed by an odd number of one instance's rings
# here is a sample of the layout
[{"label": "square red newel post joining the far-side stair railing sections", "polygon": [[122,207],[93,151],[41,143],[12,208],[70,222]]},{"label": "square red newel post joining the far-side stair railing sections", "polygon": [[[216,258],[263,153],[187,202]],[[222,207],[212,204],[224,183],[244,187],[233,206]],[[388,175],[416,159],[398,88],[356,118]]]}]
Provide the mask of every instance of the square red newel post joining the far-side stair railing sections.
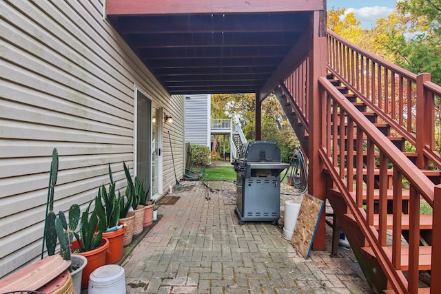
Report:
[{"label": "square red newel post joining the far-side stair railing sections", "polygon": [[434,123],[434,105],[433,99],[426,97],[424,93],[424,82],[431,80],[431,74],[422,73],[416,77],[416,152],[418,158],[416,165],[419,169],[429,167],[429,160],[424,158],[424,146],[429,145],[432,148],[433,126]]}]

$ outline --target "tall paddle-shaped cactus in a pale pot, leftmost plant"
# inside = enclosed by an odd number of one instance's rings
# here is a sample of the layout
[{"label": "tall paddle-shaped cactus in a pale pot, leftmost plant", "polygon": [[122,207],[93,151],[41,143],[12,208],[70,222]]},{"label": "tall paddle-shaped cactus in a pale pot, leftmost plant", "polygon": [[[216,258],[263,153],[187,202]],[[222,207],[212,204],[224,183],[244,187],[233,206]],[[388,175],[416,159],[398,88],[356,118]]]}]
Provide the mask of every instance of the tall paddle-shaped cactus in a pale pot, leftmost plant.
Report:
[{"label": "tall paddle-shaped cactus in a pale pot, leftmost plant", "polygon": [[[76,293],[81,291],[81,276],[84,267],[88,264],[88,260],[80,255],[72,255],[70,247],[74,238],[73,232],[66,221],[63,211],[59,211],[59,216],[54,213],[54,189],[57,184],[57,175],[59,169],[59,158],[57,149],[52,151],[52,162],[49,174],[48,201],[46,202],[45,229],[43,233],[43,248],[41,249],[41,258],[43,258],[44,246],[48,255],[54,255],[57,239],[60,241],[60,255],[64,260],[70,260],[71,264],[68,268],[72,276],[72,282]],[[73,204],[69,209],[69,222],[76,225],[79,221],[80,207]]]}]

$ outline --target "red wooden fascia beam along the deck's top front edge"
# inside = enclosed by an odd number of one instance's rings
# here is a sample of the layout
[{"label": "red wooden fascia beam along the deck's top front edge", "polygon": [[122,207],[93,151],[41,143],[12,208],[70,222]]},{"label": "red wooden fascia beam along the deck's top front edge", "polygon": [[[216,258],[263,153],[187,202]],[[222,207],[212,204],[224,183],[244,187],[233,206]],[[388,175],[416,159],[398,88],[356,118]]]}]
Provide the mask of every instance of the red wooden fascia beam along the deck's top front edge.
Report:
[{"label": "red wooden fascia beam along the deck's top front edge", "polygon": [[325,10],[325,0],[107,0],[107,16]]}]

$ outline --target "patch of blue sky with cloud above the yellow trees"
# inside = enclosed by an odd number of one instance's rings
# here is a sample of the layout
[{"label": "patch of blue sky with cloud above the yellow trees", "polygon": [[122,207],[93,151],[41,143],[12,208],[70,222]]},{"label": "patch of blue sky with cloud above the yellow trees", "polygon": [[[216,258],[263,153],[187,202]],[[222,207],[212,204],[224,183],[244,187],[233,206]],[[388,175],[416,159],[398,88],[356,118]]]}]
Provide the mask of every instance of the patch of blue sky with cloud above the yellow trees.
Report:
[{"label": "patch of blue sky with cloud above the yellow trees", "polygon": [[396,8],[396,0],[327,0],[327,9],[331,10],[332,6],[353,12],[362,28],[370,29],[375,25],[376,19],[387,17]]}]

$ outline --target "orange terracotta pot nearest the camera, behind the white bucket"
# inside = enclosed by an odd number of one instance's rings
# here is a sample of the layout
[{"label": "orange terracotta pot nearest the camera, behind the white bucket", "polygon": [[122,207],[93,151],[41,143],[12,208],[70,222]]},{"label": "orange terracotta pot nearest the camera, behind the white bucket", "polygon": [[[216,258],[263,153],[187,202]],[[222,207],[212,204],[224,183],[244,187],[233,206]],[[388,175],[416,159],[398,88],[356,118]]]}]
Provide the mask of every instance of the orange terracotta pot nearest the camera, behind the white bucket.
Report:
[{"label": "orange terracotta pot nearest the camera, behind the white bucket", "polygon": [[[103,238],[103,242],[101,242],[101,246],[98,248],[87,251],[87,252],[79,252],[75,253],[78,255],[83,255],[88,259],[88,264],[83,269],[83,274],[81,275],[81,289],[87,289],[89,286],[89,276],[92,271],[98,269],[100,266],[105,265],[105,253],[109,248],[109,240]],[[77,240],[72,242],[72,251],[79,249],[79,244]]]}]

